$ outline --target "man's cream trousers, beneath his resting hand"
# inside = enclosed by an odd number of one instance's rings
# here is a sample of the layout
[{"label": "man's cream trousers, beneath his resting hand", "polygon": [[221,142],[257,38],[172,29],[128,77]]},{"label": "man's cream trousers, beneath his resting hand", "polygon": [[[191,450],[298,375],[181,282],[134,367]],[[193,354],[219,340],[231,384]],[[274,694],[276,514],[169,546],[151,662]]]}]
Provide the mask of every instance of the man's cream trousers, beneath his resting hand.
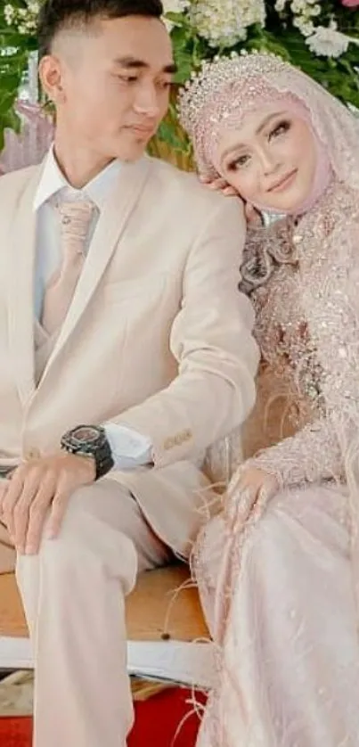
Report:
[{"label": "man's cream trousers, beneath his resting hand", "polygon": [[125,747],[125,597],[138,572],[169,557],[135,498],[106,479],[73,495],[59,538],[18,558],[36,662],[34,747]]}]

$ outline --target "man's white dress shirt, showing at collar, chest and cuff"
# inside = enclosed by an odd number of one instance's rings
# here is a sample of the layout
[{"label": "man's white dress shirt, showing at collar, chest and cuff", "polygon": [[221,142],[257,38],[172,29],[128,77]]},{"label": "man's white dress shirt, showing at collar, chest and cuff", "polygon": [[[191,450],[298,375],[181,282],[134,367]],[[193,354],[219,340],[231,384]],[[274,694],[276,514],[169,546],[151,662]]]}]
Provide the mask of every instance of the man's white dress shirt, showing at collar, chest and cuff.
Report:
[{"label": "man's white dress shirt, showing at collar, chest and cuff", "polygon": [[[53,148],[45,160],[45,168],[37,187],[34,210],[37,213],[37,261],[35,267],[35,314],[40,319],[45,287],[49,278],[61,264],[61,234],[53,197],[61,200],[84,200],[94,202],[94,218],[90,226],[85,251],[89,250],[94,229],[104,207],[111,186],[117,179],[121,164],[112,161],[109,166],[92,179],[83,189],[75,189],[62,174],[53,154]],[[114,323],[115,324],[115,323]],[[105,382],[103,384],[106,385]],[[74,423],[76,426],[78,423]],[[106,425],[115,469],[130,470],[151,462],[151,442],[146,437],[122,425]]]}]

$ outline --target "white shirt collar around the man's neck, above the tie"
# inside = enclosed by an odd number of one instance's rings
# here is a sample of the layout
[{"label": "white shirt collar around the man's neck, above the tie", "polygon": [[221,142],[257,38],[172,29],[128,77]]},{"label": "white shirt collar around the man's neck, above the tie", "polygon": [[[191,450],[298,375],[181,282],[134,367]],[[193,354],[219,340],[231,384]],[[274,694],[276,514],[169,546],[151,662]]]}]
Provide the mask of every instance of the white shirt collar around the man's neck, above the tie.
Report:
[{"label": "white shirt collar around the man's neck, above the tie", "polygon": [[102,210],[107,195],[110,192],[110,188],[117,179],[120,168],[120,161],[113,160],[101,171],[100,174],[94,176],[94,179],[91,179],[83,189],[76,189],[69,185],[66,176],[62,174],[61,168],[55,159],[52,146],[45,158],[42,176],[37,186],[37,192],[33,203],[34,211],[41,208],[45,202],[49,201],[61,190],[64,190],[64,196],[66,190],[66,193],[68,193],[67,196],[72,197],[73,199],[87,197],[94,202],[98,209]]}]

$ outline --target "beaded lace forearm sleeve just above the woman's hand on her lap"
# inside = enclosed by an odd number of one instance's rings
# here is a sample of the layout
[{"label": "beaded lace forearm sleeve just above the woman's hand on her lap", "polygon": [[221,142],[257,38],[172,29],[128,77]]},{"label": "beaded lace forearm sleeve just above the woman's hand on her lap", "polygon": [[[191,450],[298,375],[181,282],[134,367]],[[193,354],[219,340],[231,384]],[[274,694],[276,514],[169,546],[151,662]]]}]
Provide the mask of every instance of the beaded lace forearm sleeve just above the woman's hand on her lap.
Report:
[{"label": "beaded lace forearm sleeve just above the woman's hand on her lap", "polygon": [[288,439],[246,462],[271,472],[282,487],[319,480],[340,480],[343,465],[335,429],[326,417],[309,423]]}]

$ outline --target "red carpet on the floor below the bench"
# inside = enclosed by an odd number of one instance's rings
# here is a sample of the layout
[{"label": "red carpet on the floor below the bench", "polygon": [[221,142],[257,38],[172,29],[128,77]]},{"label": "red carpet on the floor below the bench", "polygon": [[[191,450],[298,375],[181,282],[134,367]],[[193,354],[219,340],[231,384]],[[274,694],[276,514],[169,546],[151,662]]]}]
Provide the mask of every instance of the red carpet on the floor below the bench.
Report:
[{"label": "red carpet on the floor below the bench", "polygon": [[[136,720],[128,747],[194,747],[199,726],[195,714],[186,719],[174,742],[178,725],[192,710],[186,702],[190,699],[188,690],[175,689],[135,703]],[[196,694],[196,700],[204,702],[200,694]],[[31,747],[31,719],[0,718],[0,745]]]}]

